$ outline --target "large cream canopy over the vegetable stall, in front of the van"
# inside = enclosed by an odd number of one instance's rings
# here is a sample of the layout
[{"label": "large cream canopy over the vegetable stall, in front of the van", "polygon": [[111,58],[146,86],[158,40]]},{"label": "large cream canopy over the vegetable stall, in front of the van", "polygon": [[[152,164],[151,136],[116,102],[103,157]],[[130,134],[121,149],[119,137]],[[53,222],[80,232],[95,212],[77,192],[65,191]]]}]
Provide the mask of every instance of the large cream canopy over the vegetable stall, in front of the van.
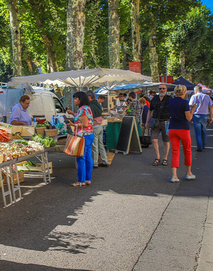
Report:
[{"label": "large cream canopy over the vegetable stall, in front of the van", "polygon": [[118,83],[136,83],[152,81],[151,77],[132,71],[119,69],[85,69],[77,71],[54,72],[40,75],[13,77],[7,83],[8,87],[16,87],[20,83],[45,83],[47,85],[72,86],[82,89],[83,87],[114,87]]}]

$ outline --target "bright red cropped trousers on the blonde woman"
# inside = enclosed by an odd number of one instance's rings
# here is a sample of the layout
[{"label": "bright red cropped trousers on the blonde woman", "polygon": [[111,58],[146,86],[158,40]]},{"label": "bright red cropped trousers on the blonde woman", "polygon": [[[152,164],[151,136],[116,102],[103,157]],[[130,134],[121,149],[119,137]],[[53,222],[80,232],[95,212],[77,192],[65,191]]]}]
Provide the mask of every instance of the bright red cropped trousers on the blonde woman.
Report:
[{"label": "bright red cropped trousers on the blonde woman", "polygon": [[184,149],[185,165],[191,165],[191,137],[189,130],[169,129],[172,148],[171,167],[179,167],[180,140]]}]

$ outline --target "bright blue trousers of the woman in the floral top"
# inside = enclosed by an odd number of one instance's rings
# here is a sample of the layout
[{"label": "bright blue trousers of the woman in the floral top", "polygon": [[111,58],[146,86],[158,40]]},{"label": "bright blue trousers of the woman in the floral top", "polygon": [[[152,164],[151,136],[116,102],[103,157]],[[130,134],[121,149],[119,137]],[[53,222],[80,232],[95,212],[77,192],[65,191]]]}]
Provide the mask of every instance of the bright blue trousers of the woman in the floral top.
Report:
[{"label": "bright blue trousers of the woman in the floral top", "polygon": [[91,181],[93,172],[92,145],[94,134],[84,135],[84,138],[84,156],[76,158],[76,162],[78,164],[78,182],[80,183]]}]

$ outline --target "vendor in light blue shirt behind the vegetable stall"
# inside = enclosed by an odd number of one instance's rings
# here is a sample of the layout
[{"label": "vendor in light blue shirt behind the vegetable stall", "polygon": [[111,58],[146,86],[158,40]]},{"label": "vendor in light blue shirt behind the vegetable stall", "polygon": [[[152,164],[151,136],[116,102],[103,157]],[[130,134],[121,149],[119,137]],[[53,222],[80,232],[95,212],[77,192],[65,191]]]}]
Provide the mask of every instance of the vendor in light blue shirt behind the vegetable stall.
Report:
[{"label": "vendor in light blue shirt behind the vegetable stall", "polygon": [[13,125],[31,125],[33,119],[29,116],[27,111],[29,105],[29,96],[23,95],[20,98],[19,103],[12,108],[9,123]]}]

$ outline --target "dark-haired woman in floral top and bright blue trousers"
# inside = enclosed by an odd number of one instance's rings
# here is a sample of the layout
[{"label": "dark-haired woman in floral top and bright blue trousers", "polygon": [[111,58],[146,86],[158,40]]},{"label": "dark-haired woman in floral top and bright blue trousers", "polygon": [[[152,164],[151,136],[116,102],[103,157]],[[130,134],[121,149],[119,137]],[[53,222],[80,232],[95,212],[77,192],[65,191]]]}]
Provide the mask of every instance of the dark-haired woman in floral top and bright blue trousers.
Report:
[{"label": "dark-haired woman in floral top and bright blue trousers", "polygon": [[77,157],[78,164],[78,181],[71,184],[73,187],[85,187],[91,185],[93,172],[92,145],[94,140],[93,133],[93,114],[89,107],[90,101],[87,94],[83,91],[74,93],[74,105],[78,106],[77,115],[74,118],[74,123],[69,121],[71,126],[75,127],[74,133],[83,135],[85,139],[84,156]]}]

